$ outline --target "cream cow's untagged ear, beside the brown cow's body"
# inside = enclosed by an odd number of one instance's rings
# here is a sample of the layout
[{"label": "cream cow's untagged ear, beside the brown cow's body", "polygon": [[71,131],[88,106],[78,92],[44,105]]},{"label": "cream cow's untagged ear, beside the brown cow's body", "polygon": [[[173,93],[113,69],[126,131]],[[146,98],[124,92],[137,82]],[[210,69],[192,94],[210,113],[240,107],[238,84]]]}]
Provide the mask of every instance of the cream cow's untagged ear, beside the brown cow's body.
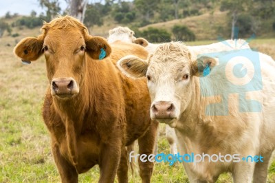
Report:
[{"label": "cream cow's untagged ear, beside the brown cow's body", "polygon": [[129,55],[120,58],[117,66],[126,76],[140,78],[146,75],[148,62],[137,56]]}]

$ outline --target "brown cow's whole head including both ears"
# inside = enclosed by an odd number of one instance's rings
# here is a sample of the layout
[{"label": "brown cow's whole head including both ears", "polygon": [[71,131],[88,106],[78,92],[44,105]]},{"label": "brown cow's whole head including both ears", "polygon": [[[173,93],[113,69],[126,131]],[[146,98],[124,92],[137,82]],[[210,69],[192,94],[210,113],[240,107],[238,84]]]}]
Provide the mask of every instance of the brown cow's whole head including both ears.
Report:
[{"label": "brown cow's whole head including both ears", "polygon": [[65,16],[44,23],[42,34],[28,37],[14,47],[14,54],[22,61],[35,61],[42,54],[46,58],[47,78],[52,95],[70,98],[78,94],[87,70],[87,54],[99,59],[108,56],[111,47],[98,36],[90,36],[78,20]]}]

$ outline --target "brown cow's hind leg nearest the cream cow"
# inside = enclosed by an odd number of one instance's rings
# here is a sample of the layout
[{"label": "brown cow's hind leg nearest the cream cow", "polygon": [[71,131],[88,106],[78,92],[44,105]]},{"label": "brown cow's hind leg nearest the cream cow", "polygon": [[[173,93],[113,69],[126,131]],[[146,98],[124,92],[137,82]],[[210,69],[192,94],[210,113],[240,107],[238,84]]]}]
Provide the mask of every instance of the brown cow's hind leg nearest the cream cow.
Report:
[{"label": "brown cow's hind leg nearest the cream cow", "polygon": [[[144,133],[144,136],[138,139],[139,153],[140,155],[148,155],[153,153],[155,136],[157,133],[158,122],[153,121],[149,129]],[[149,162],[146,158],[146,162],[141,162],[140,158],[138,164],[140,166],[140,177],[142,177],[142,182],[151,182],[151,176],[153,173],[154,163]]]}]

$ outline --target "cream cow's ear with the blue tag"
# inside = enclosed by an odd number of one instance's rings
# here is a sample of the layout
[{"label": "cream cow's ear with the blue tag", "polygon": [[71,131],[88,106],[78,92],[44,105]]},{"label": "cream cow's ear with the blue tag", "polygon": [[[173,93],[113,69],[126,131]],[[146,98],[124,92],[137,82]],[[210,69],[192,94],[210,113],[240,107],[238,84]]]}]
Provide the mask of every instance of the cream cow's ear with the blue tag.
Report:
[{"label": "cream cow's ear with the blue tag", "polygon": [[214,58],[200,56],[197,61],[191,63],[191,74],[199,77],[207,76],[215,65],[217,65],[217,61]]}]

